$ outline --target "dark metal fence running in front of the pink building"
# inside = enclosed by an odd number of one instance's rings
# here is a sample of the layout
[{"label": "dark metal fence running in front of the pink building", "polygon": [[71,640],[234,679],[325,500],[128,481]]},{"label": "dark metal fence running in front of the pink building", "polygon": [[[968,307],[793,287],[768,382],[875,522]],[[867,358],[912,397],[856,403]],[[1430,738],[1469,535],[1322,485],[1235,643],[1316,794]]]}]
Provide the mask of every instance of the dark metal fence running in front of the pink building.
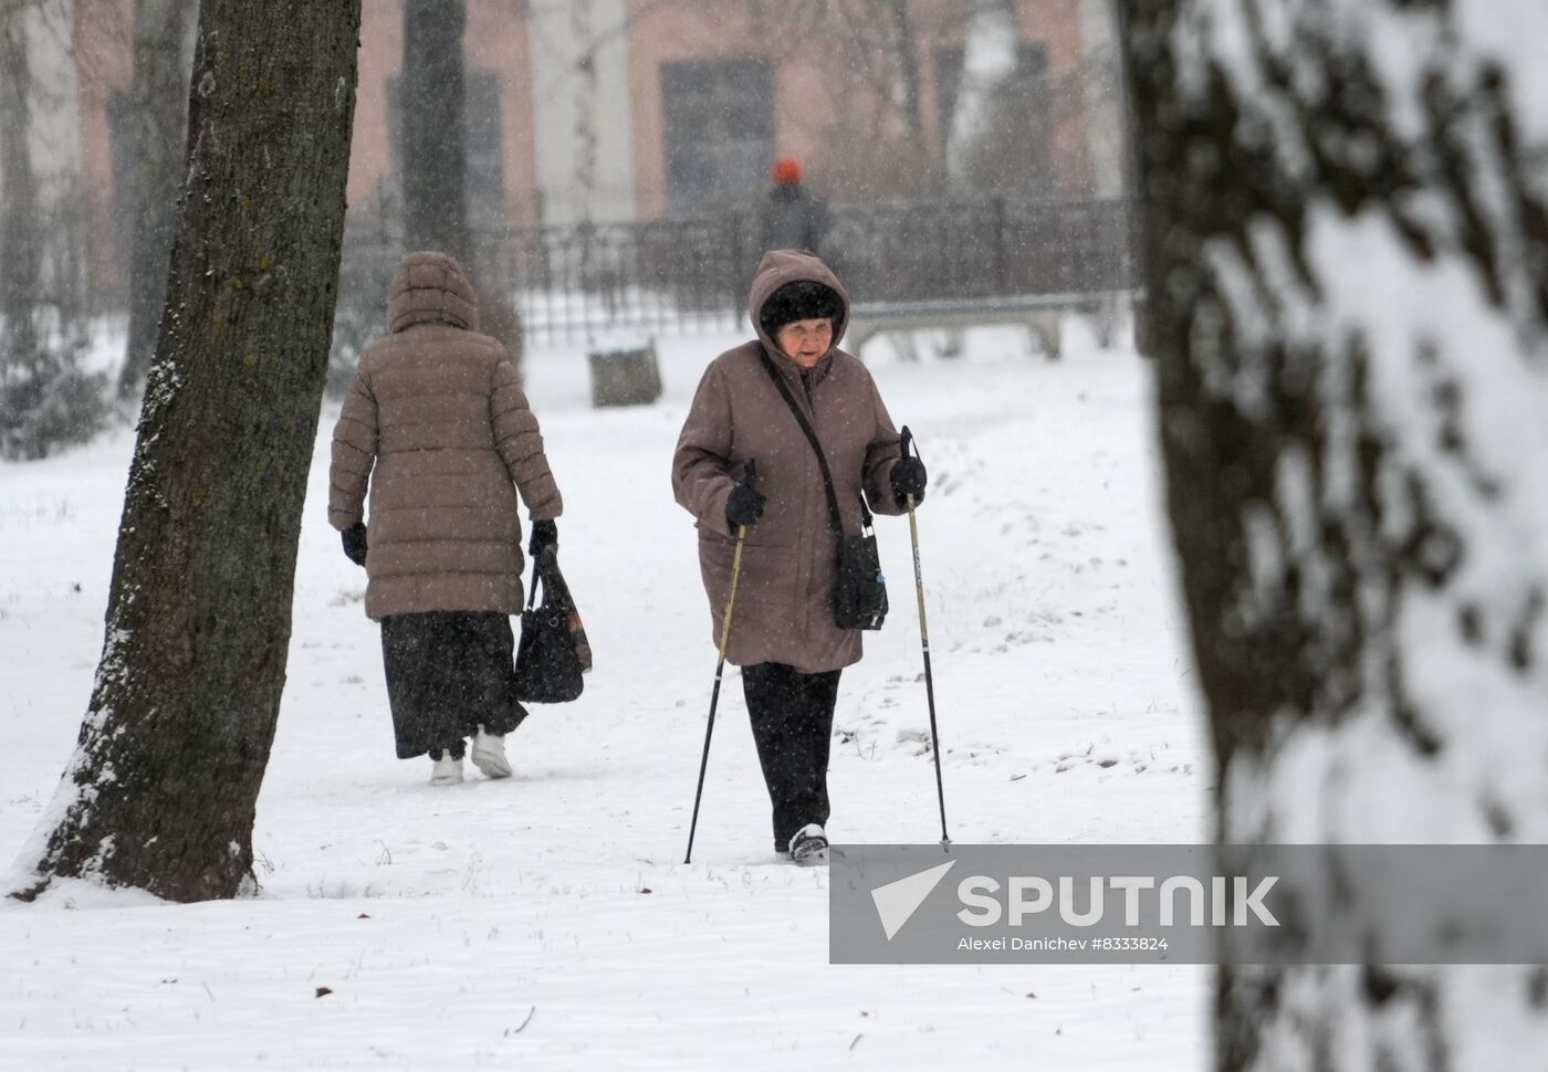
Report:
[{"label": "dark metal fence running in front of the pink building", "polygon": [[[401,243],[351,234],[341,314],[364,302],[379,323]],[[667,217],[485,234],[477,283],[506,288],[534,342],[607,333],[676,334],[735,328],[762,255],[751,213]],[[1128,212],[1121,200],[927,201],[834,206],[820,251],[854,302],[926,302],[1128,288]]]}]

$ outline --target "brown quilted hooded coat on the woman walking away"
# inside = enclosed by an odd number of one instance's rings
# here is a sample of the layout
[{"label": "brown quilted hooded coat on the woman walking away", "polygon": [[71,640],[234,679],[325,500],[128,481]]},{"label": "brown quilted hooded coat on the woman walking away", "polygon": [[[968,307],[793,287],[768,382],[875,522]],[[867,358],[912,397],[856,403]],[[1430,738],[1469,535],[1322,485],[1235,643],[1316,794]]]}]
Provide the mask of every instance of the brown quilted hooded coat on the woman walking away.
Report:
[{"label": "brown quilted hooded coat on the woman walking away", "polygon": [[563,509],[537,418],[455,260],[409,254],[387,336],[361,354],[333,430],[328,521],[362,520],[365,613],[522,608],[517,492],[534,520]]}]

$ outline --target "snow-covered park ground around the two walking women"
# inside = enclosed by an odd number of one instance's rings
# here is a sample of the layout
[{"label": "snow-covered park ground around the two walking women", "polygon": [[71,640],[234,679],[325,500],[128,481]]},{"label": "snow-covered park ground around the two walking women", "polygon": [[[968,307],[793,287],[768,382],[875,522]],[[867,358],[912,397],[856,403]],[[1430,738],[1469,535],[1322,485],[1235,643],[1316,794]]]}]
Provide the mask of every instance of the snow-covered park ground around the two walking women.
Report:
[{"label": "snow-covered park ground around the two walking women", "polygon": [[[579,348],[528,385],[596,651],[585,696],[512,738],[517,777],[427,784],[393,756],[364,574],[325,520],[324,415],[289,684],[254,832],[257,900],[80,885],[0,905],[0,1067],[1201,1069],[1197,967],[827,962],[827,874],[774,860],[738,682],[683,846],[715,653],[669,458],[704,362],[593,411]],[[1156,504],[1149,367],[1079,325],[875,373],[930,470],[920,512],[958,843],[1195,842],[1207,750]],[[873,354],[867,354],[873,357]],[[0,466],[0,869],[85,710],[132,438]],[[940,834],[906,521],[879,521],[893,616],[847,671],[839,842]],[[317,996],[319,988],[331,993]]]}]

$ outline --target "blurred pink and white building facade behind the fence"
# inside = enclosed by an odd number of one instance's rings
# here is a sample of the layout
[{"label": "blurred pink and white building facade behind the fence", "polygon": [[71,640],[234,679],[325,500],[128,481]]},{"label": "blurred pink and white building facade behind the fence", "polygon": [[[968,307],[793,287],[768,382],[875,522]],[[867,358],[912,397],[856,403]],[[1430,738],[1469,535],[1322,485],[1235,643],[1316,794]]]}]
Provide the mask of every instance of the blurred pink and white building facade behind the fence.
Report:
[{"label": "blurred pink and white building facade behind the fence", "polygon": [[[192,0],[189,0],[192,3]],[[717,212],[777,155],[830,200],[946,193],[944,152],[983,0],[466,0],[469,220],[511,226]],[[1110,0],[1014,11],[1014,128],[977,193],[1121,187]],[[122,288],[133,0],[74,0],[79,172],[93,286]],[[364,0],[348,198],[390,213],[401,0]],[[1003,159],[997,159],[998,155]]]}]

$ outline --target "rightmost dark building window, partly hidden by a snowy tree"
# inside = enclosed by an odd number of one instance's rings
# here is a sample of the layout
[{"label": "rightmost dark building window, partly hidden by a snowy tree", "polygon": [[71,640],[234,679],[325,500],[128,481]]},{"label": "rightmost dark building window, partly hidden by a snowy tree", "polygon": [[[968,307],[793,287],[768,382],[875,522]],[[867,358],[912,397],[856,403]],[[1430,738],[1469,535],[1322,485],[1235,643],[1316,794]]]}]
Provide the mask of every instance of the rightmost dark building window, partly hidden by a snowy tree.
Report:
[{"label": "rightmost dark building window, partly hidden by a snowy tree", "polygon": [[[952,116],[963,79],[963,50],[935,50],[935,102],[941,142],[950,138]],[[1000,196],[1037,196],[1054,181],[1053,94],[1048,84],[1048,48],[1040,42],[1015,46],[1015,70],[988,102],[988,136],[968,147],[966,181]]]}]

